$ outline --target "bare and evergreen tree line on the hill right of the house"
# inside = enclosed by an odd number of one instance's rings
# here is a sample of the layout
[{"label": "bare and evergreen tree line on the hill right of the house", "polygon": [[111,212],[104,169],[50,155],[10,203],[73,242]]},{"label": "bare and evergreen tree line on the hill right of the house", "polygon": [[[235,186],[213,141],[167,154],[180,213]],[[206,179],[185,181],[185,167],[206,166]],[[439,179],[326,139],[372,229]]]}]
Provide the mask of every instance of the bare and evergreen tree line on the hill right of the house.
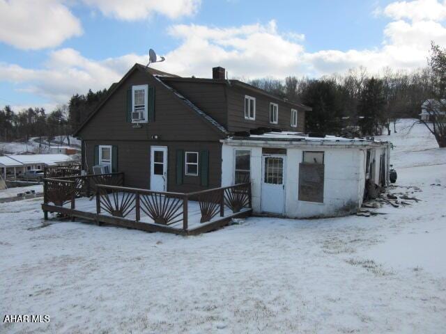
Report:
[{"label": "bare and evergreen tree line on the hill right of the house", "polygon": [[[341,136],[376,136],[396,132],[398,118],[420,118],[422,104],[429,120],[420,120],[446,147],[446,49],[431,43],[428,66],[394,71],[386,67],[371,75],[365,67],[319,79],[287,77],[255,79],[249,84],[312,107],[307,132]],[[432,106],[431,106],[432,104]]]}]

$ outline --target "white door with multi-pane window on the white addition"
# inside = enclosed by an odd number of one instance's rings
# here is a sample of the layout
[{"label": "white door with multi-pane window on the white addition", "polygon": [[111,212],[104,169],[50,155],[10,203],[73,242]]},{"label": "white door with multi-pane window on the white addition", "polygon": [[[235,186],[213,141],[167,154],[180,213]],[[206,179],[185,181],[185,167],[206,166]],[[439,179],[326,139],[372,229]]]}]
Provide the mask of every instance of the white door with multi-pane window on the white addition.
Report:
[{"label": "white door with multi-pane window on the white addition", "polygon": [[272,214],[285,212],[285,162],[283,155],[263,155],[261,211]]}]

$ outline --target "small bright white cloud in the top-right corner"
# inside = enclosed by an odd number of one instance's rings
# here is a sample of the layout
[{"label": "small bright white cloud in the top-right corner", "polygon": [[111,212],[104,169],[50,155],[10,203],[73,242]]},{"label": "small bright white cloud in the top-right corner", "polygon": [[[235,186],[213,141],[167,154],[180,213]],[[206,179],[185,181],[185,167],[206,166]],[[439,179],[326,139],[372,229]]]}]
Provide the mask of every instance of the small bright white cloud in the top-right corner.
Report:
[{"label": "small bright white cloud in the top-right corner", "polygon": [[410,19],[412,21],[442,21],[446,19],[446,1],[415,0],[397,1],[387,5],[382,11],[392,19]]}]

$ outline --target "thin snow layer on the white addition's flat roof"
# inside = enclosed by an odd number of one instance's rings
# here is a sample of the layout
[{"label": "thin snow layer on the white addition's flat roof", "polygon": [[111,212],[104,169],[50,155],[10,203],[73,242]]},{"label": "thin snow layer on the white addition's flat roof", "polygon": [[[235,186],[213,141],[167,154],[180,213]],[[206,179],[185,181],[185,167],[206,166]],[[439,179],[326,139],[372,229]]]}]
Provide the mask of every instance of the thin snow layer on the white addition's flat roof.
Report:
[{"label": "thin snow layer on the white addition's flat roof", "polygon": [[233,136],[229,141],[300,141],[305,143],[330,143],[330,144],[367,144],[383,143],[382,141],[367,138],[345,138],[338,136],[310,137],[299,132],[266,132],[265,134],[251,134],[249,137]]}]

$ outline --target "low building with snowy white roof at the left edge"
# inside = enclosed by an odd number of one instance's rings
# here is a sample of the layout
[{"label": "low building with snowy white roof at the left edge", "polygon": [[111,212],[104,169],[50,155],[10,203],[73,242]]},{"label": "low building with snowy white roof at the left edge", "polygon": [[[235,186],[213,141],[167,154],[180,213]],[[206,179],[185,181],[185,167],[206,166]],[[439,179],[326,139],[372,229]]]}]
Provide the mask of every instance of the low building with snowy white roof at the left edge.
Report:
[{"label": "low building with snowy white roof at the left edge", "polygon": [[31,169],[43,169],[45,166],[58,166],[72,163],[67,154],[9,154],[0,157],[0,175],[17,176]]}]

